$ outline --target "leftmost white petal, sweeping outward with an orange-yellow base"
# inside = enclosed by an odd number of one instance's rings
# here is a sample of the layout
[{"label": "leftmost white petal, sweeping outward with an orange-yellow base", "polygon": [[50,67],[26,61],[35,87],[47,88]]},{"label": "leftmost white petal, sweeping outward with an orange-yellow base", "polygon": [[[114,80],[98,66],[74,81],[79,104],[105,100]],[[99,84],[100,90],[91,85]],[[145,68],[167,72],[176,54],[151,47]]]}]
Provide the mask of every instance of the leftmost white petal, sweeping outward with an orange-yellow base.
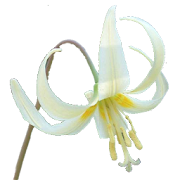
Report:
[{"label": "leftmost white petal, sweeping outward with an orange-yellow base", "polygon": [[14,101],[25,121],[35,128],[50,135],[77,134],[82,131],[92,119],[97,105],[88,108],[78,117],[69,119],[62,123],[50,125],[35,108],[34,104],[26,96],[24,90],[16,79],[10,80],[10,86]]}]

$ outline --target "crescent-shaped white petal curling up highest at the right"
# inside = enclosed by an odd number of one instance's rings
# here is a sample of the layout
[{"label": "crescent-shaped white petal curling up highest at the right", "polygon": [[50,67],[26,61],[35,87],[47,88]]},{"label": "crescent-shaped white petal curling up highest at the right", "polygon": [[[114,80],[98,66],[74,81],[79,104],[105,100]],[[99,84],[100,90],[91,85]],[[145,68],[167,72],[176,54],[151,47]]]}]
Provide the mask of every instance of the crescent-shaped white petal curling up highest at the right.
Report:
[{"label": "crescent-shaped white petal curling up highest at the right", "polygon": [[166,53],[164,42],[156,29],[143,19],[140,19],[138,17],[123,17],[120,18],[120,20],[133,21],[140,24],[147,32],[153,48],[154,64],[150,69],[149,73],[136,88],[126,91],[126,93],[128,93],[129,95],[141,94],[154,84],[158,75],[162,71]]}]

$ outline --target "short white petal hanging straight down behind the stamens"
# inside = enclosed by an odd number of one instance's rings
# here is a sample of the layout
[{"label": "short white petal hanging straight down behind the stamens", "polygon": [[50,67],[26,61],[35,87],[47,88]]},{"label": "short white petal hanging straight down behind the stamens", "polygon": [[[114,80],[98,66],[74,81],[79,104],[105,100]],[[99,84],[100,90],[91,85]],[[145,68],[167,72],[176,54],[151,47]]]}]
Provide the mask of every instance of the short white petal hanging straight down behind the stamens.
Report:
[{"label": "short white petal hanging straight down behind the stamens", "polygon": [[98,103],[98,107],[94,113],[94,121],[95,121],[95,125],[96,125],[96,129],[97,129],[99,138],[108,139],[109,135],[108,135],[108,130],[107,130],[107,123],[100,115],[99,103]]}]

